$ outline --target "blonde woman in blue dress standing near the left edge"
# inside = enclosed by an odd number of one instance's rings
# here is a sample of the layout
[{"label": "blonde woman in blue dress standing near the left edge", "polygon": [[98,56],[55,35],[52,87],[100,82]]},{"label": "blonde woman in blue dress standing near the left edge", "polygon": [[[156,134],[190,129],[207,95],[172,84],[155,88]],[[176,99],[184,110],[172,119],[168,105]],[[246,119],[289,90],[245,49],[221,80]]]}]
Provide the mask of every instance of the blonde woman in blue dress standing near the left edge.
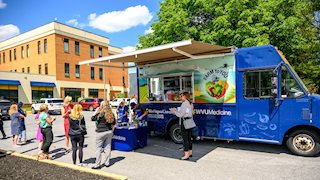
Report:
[{"label": "blonde woman in blue dress standing near the left edge", "polygon": [[11,134],[13,136],[12,145],[13,147],[21,147],[17,144],[19,136],[19,118],[24,118],[22,114],[18,112],[17,104],[12,104],[9,110],[10,120],[11,120]]}]

